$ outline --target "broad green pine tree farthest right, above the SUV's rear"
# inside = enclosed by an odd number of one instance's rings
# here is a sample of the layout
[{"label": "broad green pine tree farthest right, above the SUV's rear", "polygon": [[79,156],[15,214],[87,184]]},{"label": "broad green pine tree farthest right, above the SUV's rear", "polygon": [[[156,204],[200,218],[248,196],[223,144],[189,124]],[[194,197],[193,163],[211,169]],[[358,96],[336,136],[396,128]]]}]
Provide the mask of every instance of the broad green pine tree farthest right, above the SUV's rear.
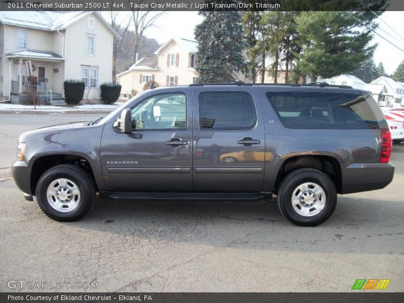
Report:
[{"label": "broad green pine tree farthest right, above the SUV's rear", "polygon": [[302,47],[298,69],[313,78],[331,78],[360,68],[376,47],[369,45],[374,18],[363,12],[301,12],[296,18]]}]

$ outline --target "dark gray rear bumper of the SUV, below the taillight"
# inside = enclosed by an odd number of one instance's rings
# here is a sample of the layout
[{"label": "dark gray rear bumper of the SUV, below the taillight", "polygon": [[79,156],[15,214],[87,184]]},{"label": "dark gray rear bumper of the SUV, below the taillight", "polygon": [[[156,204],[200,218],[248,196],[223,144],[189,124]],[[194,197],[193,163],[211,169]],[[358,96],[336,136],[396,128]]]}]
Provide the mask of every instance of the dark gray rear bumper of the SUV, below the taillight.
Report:
[{"label": "dark gray rear bumper of the SUV, below the taillight", "polygon": [[341,193],[381,189],[393,180],[391,163],[352,163],[341,165]]}]

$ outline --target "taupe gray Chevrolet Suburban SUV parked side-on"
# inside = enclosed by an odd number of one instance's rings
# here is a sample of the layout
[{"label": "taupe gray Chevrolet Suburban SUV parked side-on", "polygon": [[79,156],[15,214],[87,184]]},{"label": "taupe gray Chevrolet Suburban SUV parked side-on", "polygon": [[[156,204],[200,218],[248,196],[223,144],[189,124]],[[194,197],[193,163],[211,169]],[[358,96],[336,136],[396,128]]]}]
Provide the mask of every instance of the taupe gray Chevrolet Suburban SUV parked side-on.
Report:
[{"label": "taupe gray Chevrolet Suburban SUV parked side-on", "polygon": [[131,200],[277,195],[300,226],[327,220],[337,193],[380,189],[391,136],[366,91],[333,85],[191,84],[149,89],[104,119],[23,133],[13,177],[58,221],[96,192]]}]

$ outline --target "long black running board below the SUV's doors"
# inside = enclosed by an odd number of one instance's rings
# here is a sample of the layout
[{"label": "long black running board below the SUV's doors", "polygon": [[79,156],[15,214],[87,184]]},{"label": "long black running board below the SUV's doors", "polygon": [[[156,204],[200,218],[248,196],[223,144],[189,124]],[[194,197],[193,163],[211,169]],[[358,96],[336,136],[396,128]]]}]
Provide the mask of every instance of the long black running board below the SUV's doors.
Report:
[{"label": "long black running board below the SUV's doors", "polygon": [[109,192],[101,191],[102,198],[118,200],[196,200],[196,201],[260,201],[272,197],[270,193],[197,193],[197,192]]}]

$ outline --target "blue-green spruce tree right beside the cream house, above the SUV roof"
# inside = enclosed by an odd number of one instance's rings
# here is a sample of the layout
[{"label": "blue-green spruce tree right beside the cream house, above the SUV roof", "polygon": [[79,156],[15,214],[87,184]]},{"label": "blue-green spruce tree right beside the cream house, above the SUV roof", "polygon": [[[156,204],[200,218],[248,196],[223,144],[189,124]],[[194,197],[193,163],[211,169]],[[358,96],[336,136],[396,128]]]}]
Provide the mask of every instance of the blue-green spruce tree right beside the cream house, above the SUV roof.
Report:
[{"label": "blue-green spruce tree right beside the cream house, above the SUV roof", "polygon": [[195,27],[199,42],[196,71],[199,82],[232,82],[234,71],[245,72],[246,48],[240,12],[200,11],[204,21]]}]

